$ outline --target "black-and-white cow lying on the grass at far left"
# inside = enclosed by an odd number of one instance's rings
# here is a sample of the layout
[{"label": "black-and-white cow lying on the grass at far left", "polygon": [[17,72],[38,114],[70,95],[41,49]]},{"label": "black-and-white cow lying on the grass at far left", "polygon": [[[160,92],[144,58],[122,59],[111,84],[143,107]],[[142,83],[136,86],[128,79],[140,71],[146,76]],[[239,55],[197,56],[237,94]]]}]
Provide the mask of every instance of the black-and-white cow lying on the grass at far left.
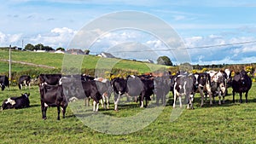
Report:
[{"label": "black-and-white cow lying on the grass at far left", "polygon": [[11,109],[11,108],[25,108],[29,107],[30,101],[28,96],[30,93],[21,94],[19,97],[10,97],[3,101],[2,109]]}]

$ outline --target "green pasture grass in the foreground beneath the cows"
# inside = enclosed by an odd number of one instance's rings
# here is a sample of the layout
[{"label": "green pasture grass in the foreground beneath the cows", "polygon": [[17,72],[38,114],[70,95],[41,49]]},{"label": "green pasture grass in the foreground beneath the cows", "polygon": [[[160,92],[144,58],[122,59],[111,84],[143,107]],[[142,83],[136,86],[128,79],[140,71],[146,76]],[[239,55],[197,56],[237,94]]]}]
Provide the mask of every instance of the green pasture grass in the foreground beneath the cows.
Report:
[{"label": "green pasture grass in the foreground beneath the cows", "polygon": [[[57,110],[50,107],[48,119],[43,120],[38,86],[20,90],[10,87],[0,91],[0,101],[20,93],[30,92],[31,107],[0,111],[0,143],[255,143],[256,141],[256,84],[248,94],[248,103],[236,103],[226,96],[226,103],[200,107],[201,98],[195,95],[195,110],[184,109],[176,121],[170,121],[172,94],[160,116],[143,130],[126,135],[108,135],[90,129],[67,107],[67,118],[56,120]],[[229,94],[231,89],[229,89]],[[242,97],[245,100],[245,97]],[[215,101],[218,99],[215,99]],[[127,103],[113,111],[113,95],[110,109],[100,107],[99,113],[125,118],[142,111],[138,103]],[[153,102],[153,101],[151,101]],[[85,107],[81,107],[85,108]],[[148,108],[150,110],[150,108]],[[90,109],[91,110],[91,109]]]}]

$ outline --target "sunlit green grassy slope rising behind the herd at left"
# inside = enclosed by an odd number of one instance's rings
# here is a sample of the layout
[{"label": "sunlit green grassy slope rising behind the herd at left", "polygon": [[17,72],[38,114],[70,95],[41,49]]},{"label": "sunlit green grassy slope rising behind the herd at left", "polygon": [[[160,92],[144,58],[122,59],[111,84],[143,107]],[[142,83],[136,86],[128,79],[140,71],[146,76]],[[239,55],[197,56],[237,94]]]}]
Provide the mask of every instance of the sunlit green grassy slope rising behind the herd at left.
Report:
[{"label": "sunlit green grassy slope rising behind the herd at left", "polygon": [[[0,49],[0,58],[9,60],[9,51]],[[52,53],[35,53],[27,51],[12,51],[12,60],[25,61],[37,65],[55,66],[61,68],[62,66],[76,66],[79,68],[119,68],[119,69],[133,69],[138,72],[150,72],[152,69],[156,70],[163,66],[145,64],[142,62],[131,60],[119,60],[119,59],[106,59],[99,58],[92,55],[61,55]],[[83,61],[81,65],[78,61]],[[0,62],[1,65],[3,62]],[[116,63],[116,64],[115,64]],[[6,62],[5,62],[6,64]],[[115,65],[113,65],[115,64]],[[113,66],[112,66],[113,65]],[[154,66],[154,68],[152,68]],[[8,72],[8,68],[0,68],[0,72]],[[33,68],[33,66],[28,67]],[[22,71],[19,67],[14,65],[14,70]]]}]

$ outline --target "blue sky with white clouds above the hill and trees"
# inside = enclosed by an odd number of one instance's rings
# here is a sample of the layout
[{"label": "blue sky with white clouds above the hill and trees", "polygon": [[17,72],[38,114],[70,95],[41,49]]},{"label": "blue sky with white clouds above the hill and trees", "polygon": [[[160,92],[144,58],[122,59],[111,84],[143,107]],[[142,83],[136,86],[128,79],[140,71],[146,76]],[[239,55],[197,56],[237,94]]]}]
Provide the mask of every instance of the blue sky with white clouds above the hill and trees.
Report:
[{"label": "blue sky with white clouds above the hill and trees", "polygon": [[[172,27],[192,64],[255,63],[255,7],[253,0],[1,0],[0,47],[43,43],[54,49],[71,49],[70,43],[84,26],[106,14],[128,10],[152,14]],[[144,25],[152,23],[149,20]],[[154,51],[168,47],[152,33],[126,28],[98,36],[90,54],[119,49],[120,53],[113,55],[139,60],[166,55],[174,64],[179,63],[175,50]]]}]

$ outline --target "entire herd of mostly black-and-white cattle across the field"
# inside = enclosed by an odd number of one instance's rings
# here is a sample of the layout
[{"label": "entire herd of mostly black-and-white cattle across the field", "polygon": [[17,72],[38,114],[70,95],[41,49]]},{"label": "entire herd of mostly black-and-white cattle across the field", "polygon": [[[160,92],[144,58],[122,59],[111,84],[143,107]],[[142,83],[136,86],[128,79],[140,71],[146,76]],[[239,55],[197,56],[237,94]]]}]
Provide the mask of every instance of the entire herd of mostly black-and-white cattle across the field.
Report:
[{"label": "entire herd of mostly black-and-white cattle across the field", "polygon": [[[65,118],[68,102],[78,99],[92,99],[94,112],[98,111],[100,101],[103,101],[103,107],[109,108],[109,98],[112,93],[116,111],[122,95],[135,98],[140,102],[140,107],[147,107],[148,101],[151,101],[152,97],[155,97],[156,105],[166,105],[166,95],[170,91],[174,97],[173,107],[176,107],[177,99],[179,106],[183,107],[183,98],[187,107],[193,109],[195,93],[201,95],[201,107],[207,97],[212,105],[212,100],[214,101],[214,97],[218,96],[218,104],[221,105],[224,103],[224,96],[227,95],[229,87],[233,89],[233,102],[235,102],[235,93],[240,94],[240,102],[242,102],[242,93],[245,93],[247,102],[247,93],[252,87],[251,78],[244,70],[236,72],[235,75],[231,73],[228,69],[195,74],[177,72],[176,75],[172,75],[171,72],[155,72],[111,80],[87,75],[40,74],[38,85],[42,118],[46,119],[47,107],[57,107],[57,119],[60,119],[62,109],[63,118]],[[30,82],[29,76],[21,76],[19,88],[22,89],[23,85],[30,87]],[[2,90],[6,87],[9,89],[9,78],[0,76],[0,86]],[[29,95],[25,93],[19,97],[10,97],[4,100],[2,109],[29,107]]]}]

